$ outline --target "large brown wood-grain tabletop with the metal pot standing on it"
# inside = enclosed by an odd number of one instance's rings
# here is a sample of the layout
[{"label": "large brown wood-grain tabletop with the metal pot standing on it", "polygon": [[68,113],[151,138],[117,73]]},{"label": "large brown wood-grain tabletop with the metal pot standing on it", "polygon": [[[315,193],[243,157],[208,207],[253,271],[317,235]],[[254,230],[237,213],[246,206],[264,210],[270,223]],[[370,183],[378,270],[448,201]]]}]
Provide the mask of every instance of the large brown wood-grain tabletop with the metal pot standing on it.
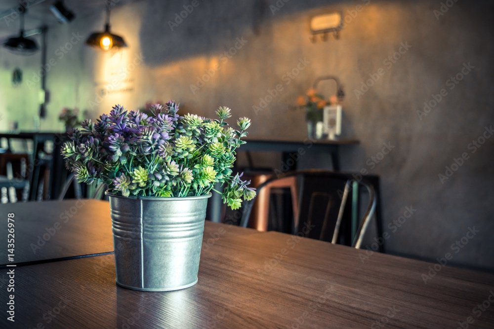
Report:
[{"label": "large brown wood-grain tabletop with the metal pot standing on it", "polygon": [[213,222],[181,291],[118,287],[113,255],[16,267],[14,326],[9,270],[0,328],[494,328],[493,275]]}]

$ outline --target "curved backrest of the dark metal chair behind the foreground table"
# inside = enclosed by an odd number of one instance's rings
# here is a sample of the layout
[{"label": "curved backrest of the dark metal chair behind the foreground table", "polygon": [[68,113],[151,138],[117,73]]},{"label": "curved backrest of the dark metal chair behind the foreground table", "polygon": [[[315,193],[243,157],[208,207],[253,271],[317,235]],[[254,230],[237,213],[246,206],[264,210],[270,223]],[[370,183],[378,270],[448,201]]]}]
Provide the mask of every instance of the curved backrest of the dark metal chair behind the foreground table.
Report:
[{"label": "curved backrest of the dark metal chair behind the foreground table", "polygon": [[[294,233],[333,244],[343,243],[360,248],[376,206],[372,185],[365,179],[356,180],[351,174],[305,170],[278,175],[262,183],[257,189],[260,190],[279,179],[294,176],[299,182],[299,211],[297,212],[299,215],[298,218],[293,219]],[[357,220],[354,221],[352,232],[351,219],[356,218],[356,213],[358,213],[360,187],[365,187],[368,191],[369,202],[360,224],[355,222]],[[347,202],[348,199],[352,202]],[[247,227],[254,200],[245,205],[241,226]],[[342,234],[343,231],[344,234]],[[348,241],[349,239],[351,241]]]}]

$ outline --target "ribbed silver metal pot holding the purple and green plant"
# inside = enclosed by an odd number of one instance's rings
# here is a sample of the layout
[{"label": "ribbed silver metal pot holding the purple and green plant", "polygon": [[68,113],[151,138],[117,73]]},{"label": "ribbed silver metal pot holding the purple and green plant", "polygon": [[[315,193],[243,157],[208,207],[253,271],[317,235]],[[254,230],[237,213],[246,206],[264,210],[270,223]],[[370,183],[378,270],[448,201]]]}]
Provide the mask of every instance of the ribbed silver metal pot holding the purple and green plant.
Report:
[{"label": "ribbed silver metal pot holding the purple and green plant", "polygon": [[207,198],[123,197],[109,191],[117,284],[146,292],[197,283]]}]

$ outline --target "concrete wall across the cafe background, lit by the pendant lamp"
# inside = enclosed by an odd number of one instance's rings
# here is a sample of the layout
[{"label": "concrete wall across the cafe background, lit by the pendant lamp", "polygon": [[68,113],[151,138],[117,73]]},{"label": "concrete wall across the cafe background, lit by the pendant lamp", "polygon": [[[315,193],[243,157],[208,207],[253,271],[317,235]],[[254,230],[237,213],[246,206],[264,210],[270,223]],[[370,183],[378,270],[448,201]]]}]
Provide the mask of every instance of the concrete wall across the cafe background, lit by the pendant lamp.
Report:
[{"label": "concrete wall across the cafe background, lit by the pendant lamp", "polygon": [[[470,144],[483,142],[485,127],[494,125],[490,1],[457,1],[437,15],[440,1],[291,0],[275,10],[281,1],[199,0],[182,22],[174,22],[190,3],[150,0],[116,8],[112,30],[129,44],[118,52],[95,52],[80,42],[63,58],[55,53],[72,33],[87,37],[102,29],[103,13],[50,30],[48,58],[57,65],[48,73],[52,100],[42,129],[61,129],[55,117],[64,106],[97,116],[116,103],[136,108],[173,98],[184,110],[206,116],[229,106],[235,116],[252,119],[254,138],[304,139],[296,98],[318,76],[336,75],[346,93],[342,138],[361,141],[342,149],[342,170],[380,175],[386,226],[406,207],[416,209],[400,227],[386,227],[388,252],[431,260],[452,253],[451,264],[494,270],[494,138],[480,147]],[[312,43],[310,16],[330,11],[342,11],[347,22],[340,39]],[[15,66],[29,76],[36,64],[4,50],[0,56],[0,97],[6,99],[0,112],[10,119],[20,115],[20,107],[28,117],[21,128],[29,128],[36,95],[7,81]],[[461,81],[448,81],[469,64],[473,68],[458,75]],[[277,84],[283,90],[255,111],[259,98]],[[419,115],[442,89],[441,101]],[[329,96],[332,90],[327,84],[321,91]],[[384,144],[393,147],[381,157]],[[446,176],[445,166],[462,154],[462,165],[441,182],[438,175]],[[282,165],[277,155],[256,154],[255,160],[259,166]],[[330,168],[330,161],[309,150],[299,167],[314,166]],[[474,226],[479,232],[452,249]]]}]

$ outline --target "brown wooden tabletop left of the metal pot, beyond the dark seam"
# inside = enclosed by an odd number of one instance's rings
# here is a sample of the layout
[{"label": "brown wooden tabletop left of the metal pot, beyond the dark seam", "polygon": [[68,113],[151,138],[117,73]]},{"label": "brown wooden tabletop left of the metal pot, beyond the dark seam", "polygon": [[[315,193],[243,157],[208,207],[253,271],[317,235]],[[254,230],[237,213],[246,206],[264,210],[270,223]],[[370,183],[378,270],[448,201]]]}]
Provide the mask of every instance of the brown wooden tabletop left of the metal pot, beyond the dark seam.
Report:
[{"label": "brown wooden tabletop left of the metal pot, beyond the dark seam", "polygon": [[0,248],[0,265],[113,252],[110,204],[99,200],[19,202],[0,205],[0,239],[14,214],[14,262]]}]

